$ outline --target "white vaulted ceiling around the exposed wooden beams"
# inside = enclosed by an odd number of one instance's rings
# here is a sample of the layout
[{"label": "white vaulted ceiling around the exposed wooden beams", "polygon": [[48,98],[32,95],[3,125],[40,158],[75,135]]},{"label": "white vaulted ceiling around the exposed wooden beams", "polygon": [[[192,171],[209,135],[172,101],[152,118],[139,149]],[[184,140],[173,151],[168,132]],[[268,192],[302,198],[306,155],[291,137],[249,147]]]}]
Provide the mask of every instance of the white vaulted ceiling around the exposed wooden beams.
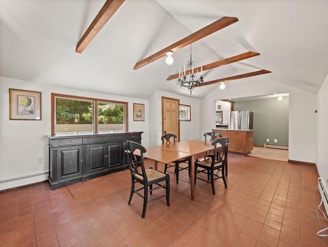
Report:
[{"label": "white vaulted ceiling around the exposed wooden beams", "polygon": [[[239,21],[193,44],[195,66],[247,51],[259,56],[204,73],[205,81],[260,69],[240,83],[272,82],[316,93],[328,74],[326,0],[126,0],[89,46],[80,37],[105,0],[0,0],[0,75],[37,83],[148,99],[156,90],[190,95],[166,78],[190,46],[140,69],[134,65],[223,16]],[[203,98],[216,85],[195,88]],[[229,82],[227,83],[229,86]]]}]

